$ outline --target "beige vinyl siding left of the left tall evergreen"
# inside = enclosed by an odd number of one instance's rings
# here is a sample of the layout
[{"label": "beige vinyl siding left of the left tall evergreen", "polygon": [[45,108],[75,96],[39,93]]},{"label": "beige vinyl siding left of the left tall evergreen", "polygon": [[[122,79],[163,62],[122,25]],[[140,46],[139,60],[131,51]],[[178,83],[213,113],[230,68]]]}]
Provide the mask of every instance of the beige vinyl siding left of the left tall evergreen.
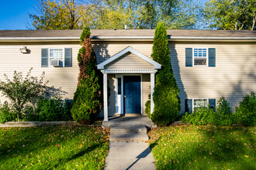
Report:
[{"label": "beige vinyl siding left of the left tall evergreen", "polygon": [[[12,79],[14,70],[22,72],[26,76],[29,69],[33,67],[32,76],[40,77],[45,72],[45,81],[49,81],[48,86],[54,86],[67,92],[64,98],[73,99],[78,83],[78,61],[77,54],[79,45],[38,45],[26,44],[30,53],[22,54],[19,49],[23,45],[0,45],[0,80],[5,80],[4,74]],[[43,48],[72,48],[72,67],[41,67],[41,49]],[[0,97],[3,102],[5,97]]]}]

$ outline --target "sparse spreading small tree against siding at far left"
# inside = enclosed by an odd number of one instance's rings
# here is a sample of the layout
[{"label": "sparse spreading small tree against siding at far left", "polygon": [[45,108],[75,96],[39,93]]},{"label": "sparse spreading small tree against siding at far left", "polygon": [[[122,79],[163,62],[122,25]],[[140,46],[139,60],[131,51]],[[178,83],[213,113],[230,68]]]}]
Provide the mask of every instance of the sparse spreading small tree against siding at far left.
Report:
[{"label": "sparse spreading small tree against siding at far left", "polygon": [[5,74],[5,81],[0,82],[0,90],[10,100],[18,121],[24,113],[26,104],[35,103],[40,97],[46,97],[50,93],[58,93],[54,87],[47,87],[47,83],[43,82],[44,73],[38,80],[36,76],[31,76],[31,71],[32,68],[25,78],[21,72],[14,71],[13,80],[10,80]]}]

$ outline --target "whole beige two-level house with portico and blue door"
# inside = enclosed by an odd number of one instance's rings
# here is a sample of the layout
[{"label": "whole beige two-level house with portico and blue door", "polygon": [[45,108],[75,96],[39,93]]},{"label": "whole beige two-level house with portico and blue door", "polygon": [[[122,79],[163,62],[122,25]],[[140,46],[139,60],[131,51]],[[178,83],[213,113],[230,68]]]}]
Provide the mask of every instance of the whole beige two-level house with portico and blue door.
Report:
[{"label": "whole beige two-level house with portico and blue door", "polygon": [[[145,114],[155,73],[161,69],[150,59],[154,30],[91,32],[98,69],[104,77],[100,116],[108,121],[115,114]],[[220,97],[226,97],[234,110],[246,93],[256,91],[256,31],[167,32],[181,114],[202,105],[214,107]],[[44,71],[48,85],[61,87],[67,92],[65,97],[72,99],[78,83],[80,34],[81,30],[0,31],[0,79],[5,80],[4,73],[9,77],[14,70],[26,74],[33,67],[33,76]]]}]

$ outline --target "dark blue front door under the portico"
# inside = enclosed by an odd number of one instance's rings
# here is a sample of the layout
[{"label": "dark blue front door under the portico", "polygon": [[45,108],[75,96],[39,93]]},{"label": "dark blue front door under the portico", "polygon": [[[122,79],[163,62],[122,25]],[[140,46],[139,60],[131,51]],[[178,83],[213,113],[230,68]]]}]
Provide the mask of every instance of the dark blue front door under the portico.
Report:
[{"label": "dark blue front door under the portico", "polygon": [[140,76],[123,76],[125,114],[141,114]]}]

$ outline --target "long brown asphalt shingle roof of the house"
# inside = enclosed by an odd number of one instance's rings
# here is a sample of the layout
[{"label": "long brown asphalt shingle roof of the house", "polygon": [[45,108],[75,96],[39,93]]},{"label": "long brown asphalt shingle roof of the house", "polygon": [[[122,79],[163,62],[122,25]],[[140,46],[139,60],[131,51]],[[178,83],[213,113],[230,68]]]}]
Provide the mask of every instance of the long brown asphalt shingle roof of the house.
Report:
[{"label": "long brown asphalt shingle roof of the house", "polygon": [[[179,30],[168,29],[168,36],[179,37],[256,37],[256,31],[243,30]],[[80,37],[81,29],[73,30],[1,30],[2,37]],[[91,36],[154,36],[154,29],[94,29],[91,30]]]}]

